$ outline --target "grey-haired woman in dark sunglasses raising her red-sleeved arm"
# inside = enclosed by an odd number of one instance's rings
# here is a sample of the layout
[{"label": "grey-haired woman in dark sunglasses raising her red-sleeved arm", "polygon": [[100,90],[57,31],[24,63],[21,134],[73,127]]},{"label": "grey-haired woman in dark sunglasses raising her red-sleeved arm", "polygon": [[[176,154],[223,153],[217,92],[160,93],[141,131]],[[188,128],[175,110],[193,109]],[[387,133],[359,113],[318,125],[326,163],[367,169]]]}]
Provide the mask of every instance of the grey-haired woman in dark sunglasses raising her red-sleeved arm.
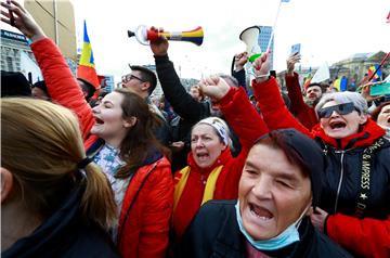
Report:
[{"label": "grey-haired woman in dark sunglasses raising her red-sleeved arm", "polygon": [[390,143],[368,118],[365,100],[355,92],[324,95],[315,107],[320,122],[309,131],[284,106],[276,80],[269,79],[269,54],[253,67],[252,86],[270,130],[296,128],[316,140],[327,156],[313,224],[356,256],[389,257]]}]

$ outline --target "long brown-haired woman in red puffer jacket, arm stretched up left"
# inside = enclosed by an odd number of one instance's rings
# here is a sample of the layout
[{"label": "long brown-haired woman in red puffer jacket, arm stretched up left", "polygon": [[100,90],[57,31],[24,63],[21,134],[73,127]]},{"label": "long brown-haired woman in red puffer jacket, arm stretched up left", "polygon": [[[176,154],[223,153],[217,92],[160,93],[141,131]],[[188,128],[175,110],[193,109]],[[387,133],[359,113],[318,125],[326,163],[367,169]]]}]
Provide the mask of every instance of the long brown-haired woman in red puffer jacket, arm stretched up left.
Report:
[{"label": "long brown-haired woman in red puffer jacket, arm stretched up left", "polygon": [[[16,14],[13,24],[31,39],[52,100],[78,116],[87,154],[110,182],[118,206],[112,232],[120,255],[165,257],[173,179],[167,153],[154,137],[157,117],[128,89],[108,93],[92,109],[60,50],[29,13],[13,0],[1,5]],[[1,21],[11,24],[10,15],[1,14]]]}]

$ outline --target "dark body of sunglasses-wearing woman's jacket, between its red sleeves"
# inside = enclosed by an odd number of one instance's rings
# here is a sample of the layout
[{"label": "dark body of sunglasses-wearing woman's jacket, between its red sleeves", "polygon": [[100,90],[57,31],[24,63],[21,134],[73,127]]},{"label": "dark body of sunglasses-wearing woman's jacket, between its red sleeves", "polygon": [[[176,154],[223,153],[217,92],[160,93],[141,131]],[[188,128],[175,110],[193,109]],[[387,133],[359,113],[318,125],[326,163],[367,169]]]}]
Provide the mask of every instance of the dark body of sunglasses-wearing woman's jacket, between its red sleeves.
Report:
[{"label": "dark body of sunglasses-wearing woman's jacket, between its red sleeves", "polygon": [[[377,139],[380,146],[370,154],[369,172],[363,169],[363,154],[368,146],[336,150],[324,145],[328,168],[320,207],[330,215],[343,214],[356,218],[386,220],[390,215],[390,143]],[[366,170],[366,171],[364,171]],[[366,189],[362,189],[367,186]],[[365,191],[366,190],[366,191]],[[367,198],[361,199],[365,194]],[[362,202],[363,201],[363,202]],[[365,206],[358,209],[358,203]],[[360,211],[358,211],[360,210]]]}]

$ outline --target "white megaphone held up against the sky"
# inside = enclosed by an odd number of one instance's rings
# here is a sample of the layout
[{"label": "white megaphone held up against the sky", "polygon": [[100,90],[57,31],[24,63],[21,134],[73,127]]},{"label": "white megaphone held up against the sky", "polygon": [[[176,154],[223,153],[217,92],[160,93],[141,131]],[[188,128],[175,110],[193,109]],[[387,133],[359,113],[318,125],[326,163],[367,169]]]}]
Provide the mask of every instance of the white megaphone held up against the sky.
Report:
[{"label": "white megaphone held up against the sky", "polygon": [[253,62],[261,55],[261,49],[259,46],[260,31],[261,29],[259,26],[251,26],[239,34],[239,39],[247,46],[246,52],[248,52],[249,62]]}]

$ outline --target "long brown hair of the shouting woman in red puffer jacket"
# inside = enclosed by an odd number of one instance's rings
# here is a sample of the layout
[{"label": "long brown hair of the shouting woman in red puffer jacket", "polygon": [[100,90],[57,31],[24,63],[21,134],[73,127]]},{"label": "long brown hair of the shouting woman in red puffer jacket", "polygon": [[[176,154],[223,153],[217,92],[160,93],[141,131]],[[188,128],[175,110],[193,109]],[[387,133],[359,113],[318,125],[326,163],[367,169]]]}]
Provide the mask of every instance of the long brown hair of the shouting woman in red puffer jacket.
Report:
[{"label": "long brown hair of the shouting woman in red puffer jacket", "polygon": [[116,89],[115,92],[123,95],[122,118],[136,118],[135,125],[129,129],[120,143],[119,155],[126,165],[115,176],[127,178],[143,164],[151,152],[158,151],[169,157],[169,151],[155,137],[155,129],[161,121],[150,111],[145,100],[129,89]]}]

